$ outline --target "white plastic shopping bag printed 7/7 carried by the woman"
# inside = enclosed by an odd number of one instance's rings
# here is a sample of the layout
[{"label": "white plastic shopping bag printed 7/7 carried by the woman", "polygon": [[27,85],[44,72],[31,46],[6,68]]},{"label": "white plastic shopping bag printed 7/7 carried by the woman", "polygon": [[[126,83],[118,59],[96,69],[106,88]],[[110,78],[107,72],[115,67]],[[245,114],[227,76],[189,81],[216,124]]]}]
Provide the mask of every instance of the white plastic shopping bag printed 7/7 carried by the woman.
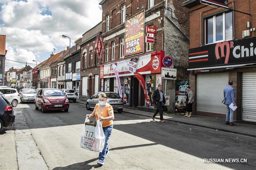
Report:
[{"label": "white plastic shopping bag printed 7/7 carried by the woman", "polygon": [[86,118],[84,122],[80,146],[84,149],[102,152],[105,144],[105,135],[102,123],[98,120],[96,127],[94,127],[91,125],[85,125],[86,122],[89,122],[88,118]]}]

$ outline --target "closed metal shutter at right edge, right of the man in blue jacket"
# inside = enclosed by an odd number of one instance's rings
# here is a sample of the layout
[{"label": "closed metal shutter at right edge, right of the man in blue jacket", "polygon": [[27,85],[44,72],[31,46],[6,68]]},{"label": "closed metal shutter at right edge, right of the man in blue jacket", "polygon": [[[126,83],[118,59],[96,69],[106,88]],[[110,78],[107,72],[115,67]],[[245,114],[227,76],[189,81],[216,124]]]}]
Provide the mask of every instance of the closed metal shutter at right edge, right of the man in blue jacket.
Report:
[{"label": "closed metal shutter at right edge, right of the man in blue jacket", "polygon": [[243,73],[242,120],[256,122],[256,72]]}]

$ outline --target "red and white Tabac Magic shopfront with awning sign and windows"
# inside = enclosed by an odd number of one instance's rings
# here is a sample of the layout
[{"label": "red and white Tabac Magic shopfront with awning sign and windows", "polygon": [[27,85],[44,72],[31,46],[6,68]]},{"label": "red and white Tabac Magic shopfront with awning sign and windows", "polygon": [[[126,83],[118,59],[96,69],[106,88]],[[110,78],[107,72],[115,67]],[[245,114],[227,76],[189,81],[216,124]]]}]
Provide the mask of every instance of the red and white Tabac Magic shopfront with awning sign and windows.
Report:
[{"label": "red and white Tabac Magic shopfront with awning sign and windows", "polygon": [[[101,91],[118,93],[118,85],[113,73],[112,64],[117,66],[120,77],[123,102],[126,107],[137,107],[139,110],[154,111],[152,95],[158,84],[162,83],[161,67],[164,51],[156,51],[143,56],[121,60],[100,67]],[[134,72],[143,75],[145,90],[149,100],[145,100],[144,90]]]}]

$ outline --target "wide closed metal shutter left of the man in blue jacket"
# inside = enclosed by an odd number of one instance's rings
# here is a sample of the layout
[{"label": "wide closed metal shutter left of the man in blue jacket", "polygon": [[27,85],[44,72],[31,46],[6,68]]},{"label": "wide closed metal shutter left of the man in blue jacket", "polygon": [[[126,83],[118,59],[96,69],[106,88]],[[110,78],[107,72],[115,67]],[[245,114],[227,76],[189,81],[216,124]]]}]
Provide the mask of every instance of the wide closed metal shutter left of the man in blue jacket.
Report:
[{"label": "wide closed metal shutter left of the man in blue jacket", "polygon": [[223,90],[228,86],[228,73],[197,75],[197,111],[226,114],[222,103]]}]

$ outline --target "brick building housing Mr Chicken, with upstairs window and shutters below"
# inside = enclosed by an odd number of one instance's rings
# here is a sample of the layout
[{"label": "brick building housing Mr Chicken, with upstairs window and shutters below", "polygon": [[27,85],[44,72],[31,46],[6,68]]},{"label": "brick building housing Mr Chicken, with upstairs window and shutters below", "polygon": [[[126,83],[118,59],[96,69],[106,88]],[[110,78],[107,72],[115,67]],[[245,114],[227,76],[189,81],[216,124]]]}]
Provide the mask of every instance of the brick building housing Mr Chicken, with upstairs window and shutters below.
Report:
[{"label": "brick building housing Mr Chicken, with upstairs window and shutters below", "polygon": [[[226,1],[227,2],[227,1]],[[234,120],[256,122],[256,5],[230,0],[216,8],[189,0],[189,81],[195,94],[193,114],[225,118],[223,89],[233,81],[238,106]]]}]

